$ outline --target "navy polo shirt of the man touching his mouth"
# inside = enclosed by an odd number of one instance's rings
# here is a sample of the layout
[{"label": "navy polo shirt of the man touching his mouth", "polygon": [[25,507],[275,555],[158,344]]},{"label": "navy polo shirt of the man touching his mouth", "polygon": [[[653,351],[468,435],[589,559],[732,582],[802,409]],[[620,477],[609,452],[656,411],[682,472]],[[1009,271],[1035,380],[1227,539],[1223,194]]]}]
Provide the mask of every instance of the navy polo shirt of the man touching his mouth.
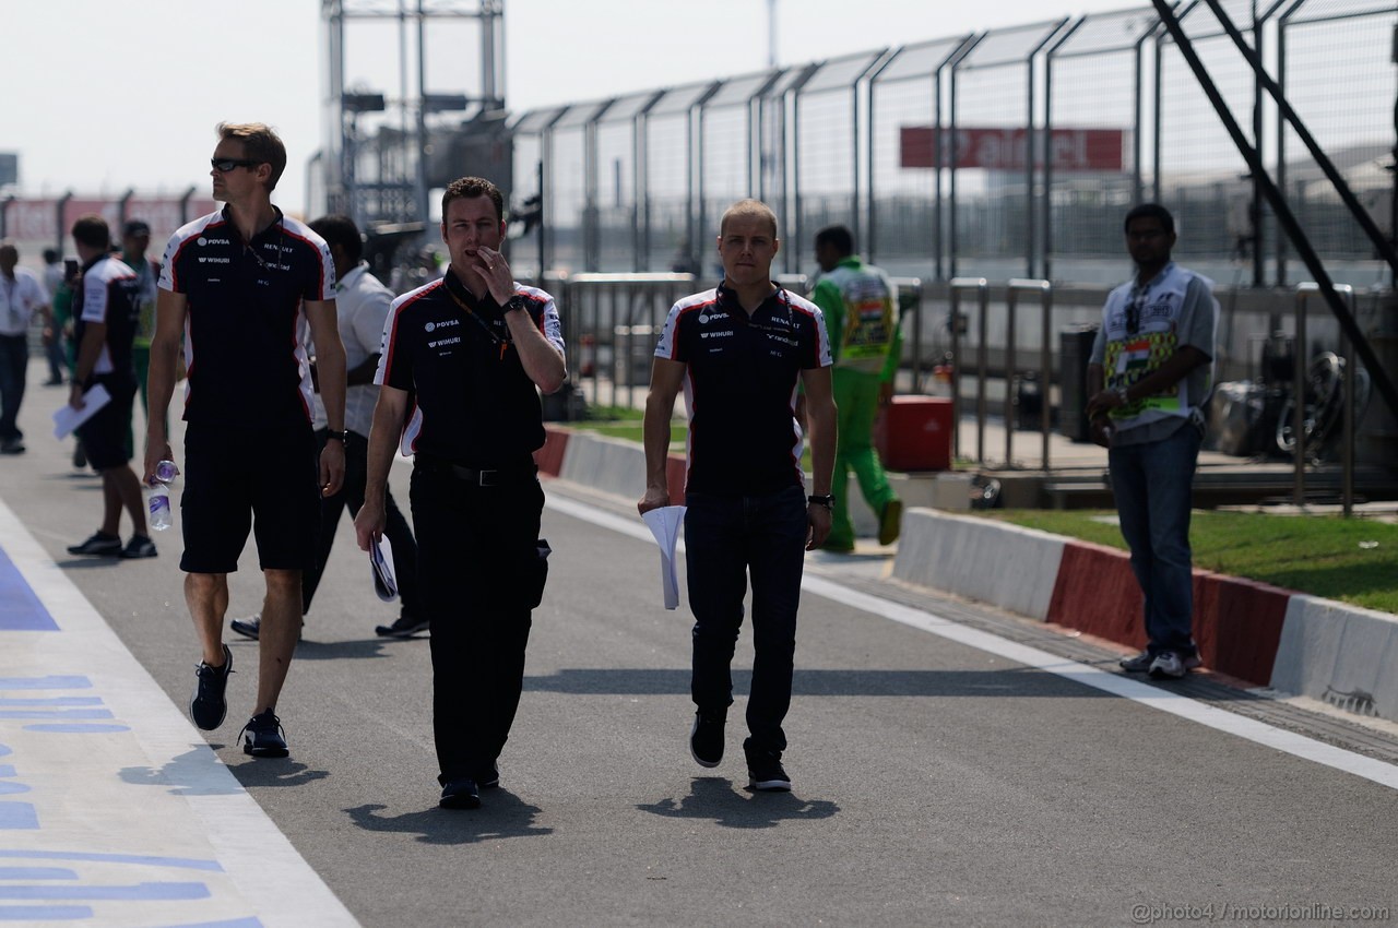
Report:
[{"label": "navy polo shirt of the man touching his mouth", "polygon": [[[524,312],[563,351],[554,298],[514,284]],[[411,408],[404,454],[422,451],[464,467],[514,467],[544,444],[538,389],[520,363],[500,306],[446,277],[393,300],[375,383],[404,390]]]}]

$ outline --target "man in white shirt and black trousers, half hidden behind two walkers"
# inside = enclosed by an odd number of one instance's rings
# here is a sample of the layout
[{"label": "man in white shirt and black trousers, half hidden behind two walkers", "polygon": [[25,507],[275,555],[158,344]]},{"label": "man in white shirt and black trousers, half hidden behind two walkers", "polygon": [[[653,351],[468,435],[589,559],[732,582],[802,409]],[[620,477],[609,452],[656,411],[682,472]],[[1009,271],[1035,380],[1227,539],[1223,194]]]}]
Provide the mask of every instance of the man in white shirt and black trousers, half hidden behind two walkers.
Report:
[{"label": "man in white shirt and black trousers, half hidden behind two walkers", "polygon": [[[393,292],[369,273],[368,261],[362,260],[363,239],[354,219],[347,215],[327,215],[312,222],[310,228],[326,240],[330,257],[336,261],[336,312],[340,317],[340,340],[345,345],[348,389],[345,390],[345,482],[338,493],[320,500],[320,556],[315,567],[301,574],[303,616],[310,612],[310,601],[316,595],[316,587],[336,542],[341,513],[348,506],[350,517],[354,519],[363,506],[369,425],[373,422],[373,407],[379,400],[373,375],[379,368],[383,323],[393,303]],[[319,386],[315,428],[316,439],[324,447],[329,426]],[[383,534],[393,546],[393,576],[398,584],[403,611],[393,625],[380,625],[375,630],[383,637],[407,639],[428,629],[426,615],[418,604],[418,545],[408,520],[404,519],[391,493],[386,496],[384,507],[389,523]],[[261,616],[233,619],[232,629],[245,637],[257,639]]]}]

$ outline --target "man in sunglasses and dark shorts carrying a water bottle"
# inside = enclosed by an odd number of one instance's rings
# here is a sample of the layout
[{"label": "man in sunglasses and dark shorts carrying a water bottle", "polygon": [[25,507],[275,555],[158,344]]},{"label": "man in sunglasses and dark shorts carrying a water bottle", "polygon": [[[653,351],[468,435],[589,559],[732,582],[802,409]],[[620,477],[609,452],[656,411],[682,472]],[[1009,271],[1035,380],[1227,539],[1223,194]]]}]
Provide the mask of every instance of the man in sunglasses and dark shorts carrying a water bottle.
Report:
[{"label": "man in sunglasses and dark shorts carrying a water bottle", "polygon": [[[228,573],[238,569],[252,528],[267,594],[257,703],[243,727],[243,752],[285,757],[277,697],[301,630],[301,574],[315,563],[320,496],[333,496],[344,479],[345,355],[326,242],[271,203],[285,145],[261,123],[219,123],[218,136],[211,176],[214,198],[226,205],[179,229],[165,249],[145,481],[155,479],[159,461],[175,460],[165,418],[187,331],[180,570],[203,647],[190,717],[211,731],[228,711]],[[319,464],[308,326],[329,425]]]}]

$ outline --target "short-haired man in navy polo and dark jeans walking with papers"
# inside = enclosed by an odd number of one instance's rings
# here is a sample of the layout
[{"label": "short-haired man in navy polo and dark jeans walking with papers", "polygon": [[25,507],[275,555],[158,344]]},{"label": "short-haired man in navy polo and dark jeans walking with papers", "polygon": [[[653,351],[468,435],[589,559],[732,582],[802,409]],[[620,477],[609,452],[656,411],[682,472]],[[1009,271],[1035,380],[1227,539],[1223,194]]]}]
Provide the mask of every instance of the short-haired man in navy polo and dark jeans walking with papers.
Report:
[{"label": "short-haired man in navy polo and dark jeans walking with papers", "polygon": [[[756,200],[719,224],[723,282],[674,305],[656,348],[646,400],[642,514],[670,505],[665,461],[675,397],[689,407],[685,563],[695,615],[689,753],[723,760],[733,653],[752,580],[752,690],[742,744],[748,785],[788,791],[781,766],[791,706],[795,618],[805,551],[830,531],[835,401],[821,309],[772,282],[776,214]],[[801,472],[797,384],[805,393],[811,495]]]}]

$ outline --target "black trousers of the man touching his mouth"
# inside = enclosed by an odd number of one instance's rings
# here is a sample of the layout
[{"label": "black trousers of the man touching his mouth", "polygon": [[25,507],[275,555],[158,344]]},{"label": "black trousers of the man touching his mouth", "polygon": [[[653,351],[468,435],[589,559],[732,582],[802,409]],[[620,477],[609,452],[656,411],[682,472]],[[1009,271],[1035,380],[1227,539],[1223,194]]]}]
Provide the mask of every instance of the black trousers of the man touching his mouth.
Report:
[{"label": "black trousers of the man touching his mouth", "polygon": [[530,472],[480,486],[412,468],[418,580],[432,623],[432,731],[443,784],[500,755],[524,685],[530,612],[542,593],[544,491]]}]

